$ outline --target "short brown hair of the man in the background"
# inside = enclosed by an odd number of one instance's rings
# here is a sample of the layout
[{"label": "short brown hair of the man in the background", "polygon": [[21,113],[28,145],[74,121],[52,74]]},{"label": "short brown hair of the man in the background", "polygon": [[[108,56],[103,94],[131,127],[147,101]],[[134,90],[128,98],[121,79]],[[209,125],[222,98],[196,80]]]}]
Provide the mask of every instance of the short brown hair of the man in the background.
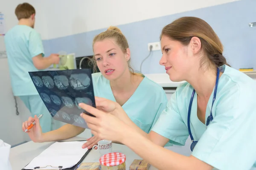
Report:
[{"label": "short brown hair of the man in the background", "polygon": [[32,14],[35,14],[35,8],[29,3],[21,3],[15,9],[17,19],[28,19]]}]

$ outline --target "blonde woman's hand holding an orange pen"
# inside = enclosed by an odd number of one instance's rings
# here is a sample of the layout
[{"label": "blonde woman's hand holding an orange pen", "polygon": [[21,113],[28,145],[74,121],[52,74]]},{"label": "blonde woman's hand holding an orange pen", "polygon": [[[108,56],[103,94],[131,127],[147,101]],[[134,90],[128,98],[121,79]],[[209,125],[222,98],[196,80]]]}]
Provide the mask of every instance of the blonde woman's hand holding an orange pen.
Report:
[{"label": "blonde woman's hand holding an orange pen", "polygon": [[33,142],[44,142],[43,141],[43,133],[42,133],[42,128],[40,126],[40,122],[38,117],[35,115],[34,118],[29,117],[29,119],[22,124],[22,130],[25,132],[26,128],[29,127],[33,122],[35,121],[35,125],[28,130],[26,133],[28,133],[30,139]]}]

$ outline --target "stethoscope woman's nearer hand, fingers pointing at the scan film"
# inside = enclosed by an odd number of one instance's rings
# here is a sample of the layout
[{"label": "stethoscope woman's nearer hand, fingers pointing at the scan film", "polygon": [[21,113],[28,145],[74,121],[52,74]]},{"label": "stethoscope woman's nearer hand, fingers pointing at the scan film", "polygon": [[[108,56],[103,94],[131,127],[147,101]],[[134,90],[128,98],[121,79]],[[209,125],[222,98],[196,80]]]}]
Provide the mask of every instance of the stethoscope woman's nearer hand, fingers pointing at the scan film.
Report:
[{"label": "stethoscope woman's nearer hand, fingers pointing at the scan film", "polygon": [[[105,102],[113,106],[113,101],[105,100]],[[100,104],[98,104],[97,107],[99,105]],[[87,122],[87,125],[91,129],[93,135],[97,136],[99,139],[107,139],[122,143],[122,136],[124,136],[124,133],[126,133],[126,131],[129,129],[128,125],[126,125],[113,114],[108,114],[108,111],[99,110],[84,103],[80,103],[79,106],[85,111],[96,116],[89,116],[85,113],[80,114],[80,116],[85,120],[85,122]],[[116,105],[116,107],[118,107],[118,105]],[[118,110],[119,108],[113,109]]]}]

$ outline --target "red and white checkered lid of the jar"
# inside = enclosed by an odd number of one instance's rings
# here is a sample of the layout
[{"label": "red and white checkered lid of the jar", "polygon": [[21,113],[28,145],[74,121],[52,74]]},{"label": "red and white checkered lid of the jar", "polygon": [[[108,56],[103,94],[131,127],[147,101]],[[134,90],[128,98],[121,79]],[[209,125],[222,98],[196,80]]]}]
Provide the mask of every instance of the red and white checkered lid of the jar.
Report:
[{"label": "red and white checkered lid of the jar", "polygon": [[113,167],[119,164],[123,164],[126,160],[126,156],[123,153],[107,153],[99,159],[99,163],[106,167]]}]

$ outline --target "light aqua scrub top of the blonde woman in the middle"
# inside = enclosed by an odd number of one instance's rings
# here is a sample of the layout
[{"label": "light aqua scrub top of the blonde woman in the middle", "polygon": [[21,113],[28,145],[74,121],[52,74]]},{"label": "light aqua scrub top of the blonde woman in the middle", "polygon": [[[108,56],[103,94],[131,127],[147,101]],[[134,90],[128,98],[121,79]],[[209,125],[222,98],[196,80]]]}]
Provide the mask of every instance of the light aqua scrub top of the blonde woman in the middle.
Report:
[{"label": "light aqua scrub top of the blonde woman in the middle", "polygon": [[[110,82],[101,73],[93,73],[94,95],[116,102]],[[122,105],[129,118],[148,133],[166,108],[167,98],[163,88],[144,77],[134,94]]]}]

